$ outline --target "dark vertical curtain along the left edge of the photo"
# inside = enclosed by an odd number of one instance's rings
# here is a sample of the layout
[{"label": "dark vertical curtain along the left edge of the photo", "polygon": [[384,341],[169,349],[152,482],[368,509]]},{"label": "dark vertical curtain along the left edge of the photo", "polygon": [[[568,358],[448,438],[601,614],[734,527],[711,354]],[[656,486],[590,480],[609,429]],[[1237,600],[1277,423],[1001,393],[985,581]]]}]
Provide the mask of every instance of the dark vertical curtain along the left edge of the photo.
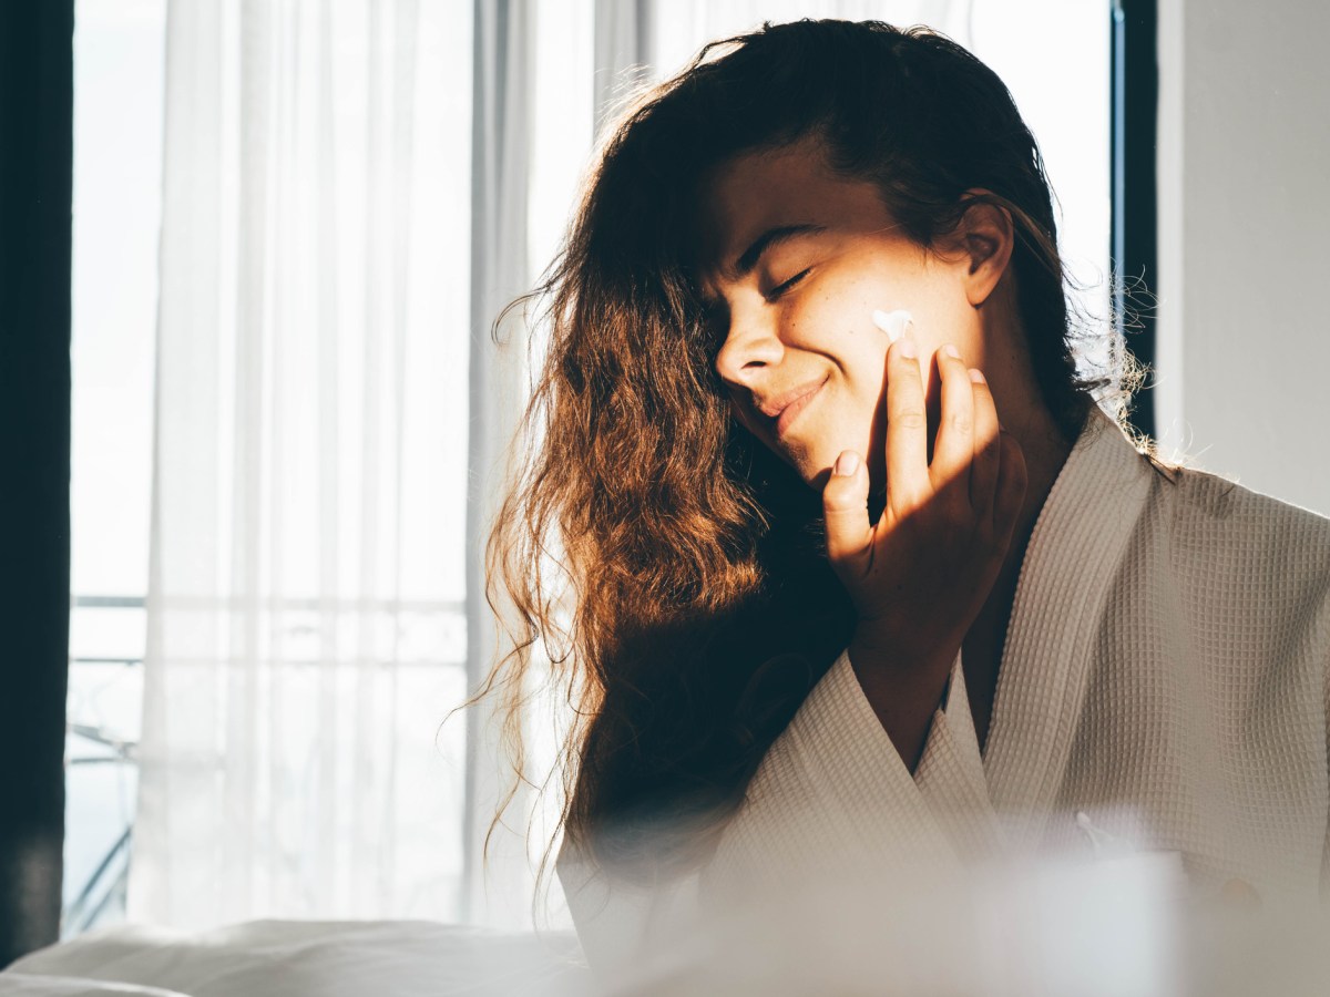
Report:
[{"label": "dark vertical curtain along the left edge of the photo", "polygon": [[0,965],[60,932],[73,24],[0,3]]}]

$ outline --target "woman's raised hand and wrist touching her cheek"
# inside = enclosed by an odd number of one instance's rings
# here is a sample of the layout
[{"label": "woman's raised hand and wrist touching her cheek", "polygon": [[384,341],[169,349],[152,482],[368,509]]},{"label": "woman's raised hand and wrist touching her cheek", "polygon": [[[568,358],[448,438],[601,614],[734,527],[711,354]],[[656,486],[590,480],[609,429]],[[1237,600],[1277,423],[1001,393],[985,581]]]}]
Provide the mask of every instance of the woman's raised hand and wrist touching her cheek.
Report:
[{"label": "woman's raised hand and wrist touching her cheek", "polygon": [[[858,610],[850,659],[907,763],[998,578],[1025,496],[1020,445],[1000,431],[983,375],[948,347],[936,354],[942,417],[928,463],[916,354],[908,334],[887,352],[887,497],[878,522],[868,521],[868,472],[853,451],[822,493],[827,556]],[[920,719],[922,731],[912,730]]]}]

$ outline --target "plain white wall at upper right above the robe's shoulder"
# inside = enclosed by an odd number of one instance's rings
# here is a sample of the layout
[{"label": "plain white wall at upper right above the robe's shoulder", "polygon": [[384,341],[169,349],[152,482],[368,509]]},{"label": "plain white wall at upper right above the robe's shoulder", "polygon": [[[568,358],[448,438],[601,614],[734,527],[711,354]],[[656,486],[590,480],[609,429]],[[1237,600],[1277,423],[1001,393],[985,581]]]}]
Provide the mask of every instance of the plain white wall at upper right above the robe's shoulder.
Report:
[{"label": "plain white wall at upper right above the robe's shoulder", "polygon": [[1164,449],[1330,514],[1330,4],[1161,0]]}]

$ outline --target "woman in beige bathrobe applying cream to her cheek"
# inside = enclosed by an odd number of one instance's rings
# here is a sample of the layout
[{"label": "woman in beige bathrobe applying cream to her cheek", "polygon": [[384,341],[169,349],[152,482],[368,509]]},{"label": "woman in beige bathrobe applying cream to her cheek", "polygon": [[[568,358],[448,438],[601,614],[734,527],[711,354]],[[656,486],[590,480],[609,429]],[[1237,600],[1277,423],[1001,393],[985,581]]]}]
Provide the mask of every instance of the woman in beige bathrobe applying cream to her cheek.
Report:
[{"label": "woman in beige bathrobe applying cream to her cheek", "polygon": [[769,25],[609,137],[489,548],[492,681],[516,710],[541,639],[579,718],[593,964],[833,856],[1108,833],[1318,895],[1330,521],[1141,452],[1063,284],[1033,137],[927,29]]}]

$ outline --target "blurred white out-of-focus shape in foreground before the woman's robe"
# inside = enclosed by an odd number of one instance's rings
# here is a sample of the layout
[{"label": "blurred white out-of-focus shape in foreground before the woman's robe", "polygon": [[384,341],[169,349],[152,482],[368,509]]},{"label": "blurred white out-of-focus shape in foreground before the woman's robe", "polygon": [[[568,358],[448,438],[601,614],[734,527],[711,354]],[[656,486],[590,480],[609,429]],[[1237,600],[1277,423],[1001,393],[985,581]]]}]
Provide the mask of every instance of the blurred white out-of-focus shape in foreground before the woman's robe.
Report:
[{"label": "blurred white out-of-focus shape in foreground before the woman's robe", "polygon": [[[847,871],[712,909],[620,965],[612,994],[1177,997],[1330,992],[1323,919],[1188,895],[1176,852]],[[1253,953],[1278,958],[1261,966]],[[1237,965],[1241,962],[1241,965]],[[1256,988],[1256,989],[1253,989]]]}]

